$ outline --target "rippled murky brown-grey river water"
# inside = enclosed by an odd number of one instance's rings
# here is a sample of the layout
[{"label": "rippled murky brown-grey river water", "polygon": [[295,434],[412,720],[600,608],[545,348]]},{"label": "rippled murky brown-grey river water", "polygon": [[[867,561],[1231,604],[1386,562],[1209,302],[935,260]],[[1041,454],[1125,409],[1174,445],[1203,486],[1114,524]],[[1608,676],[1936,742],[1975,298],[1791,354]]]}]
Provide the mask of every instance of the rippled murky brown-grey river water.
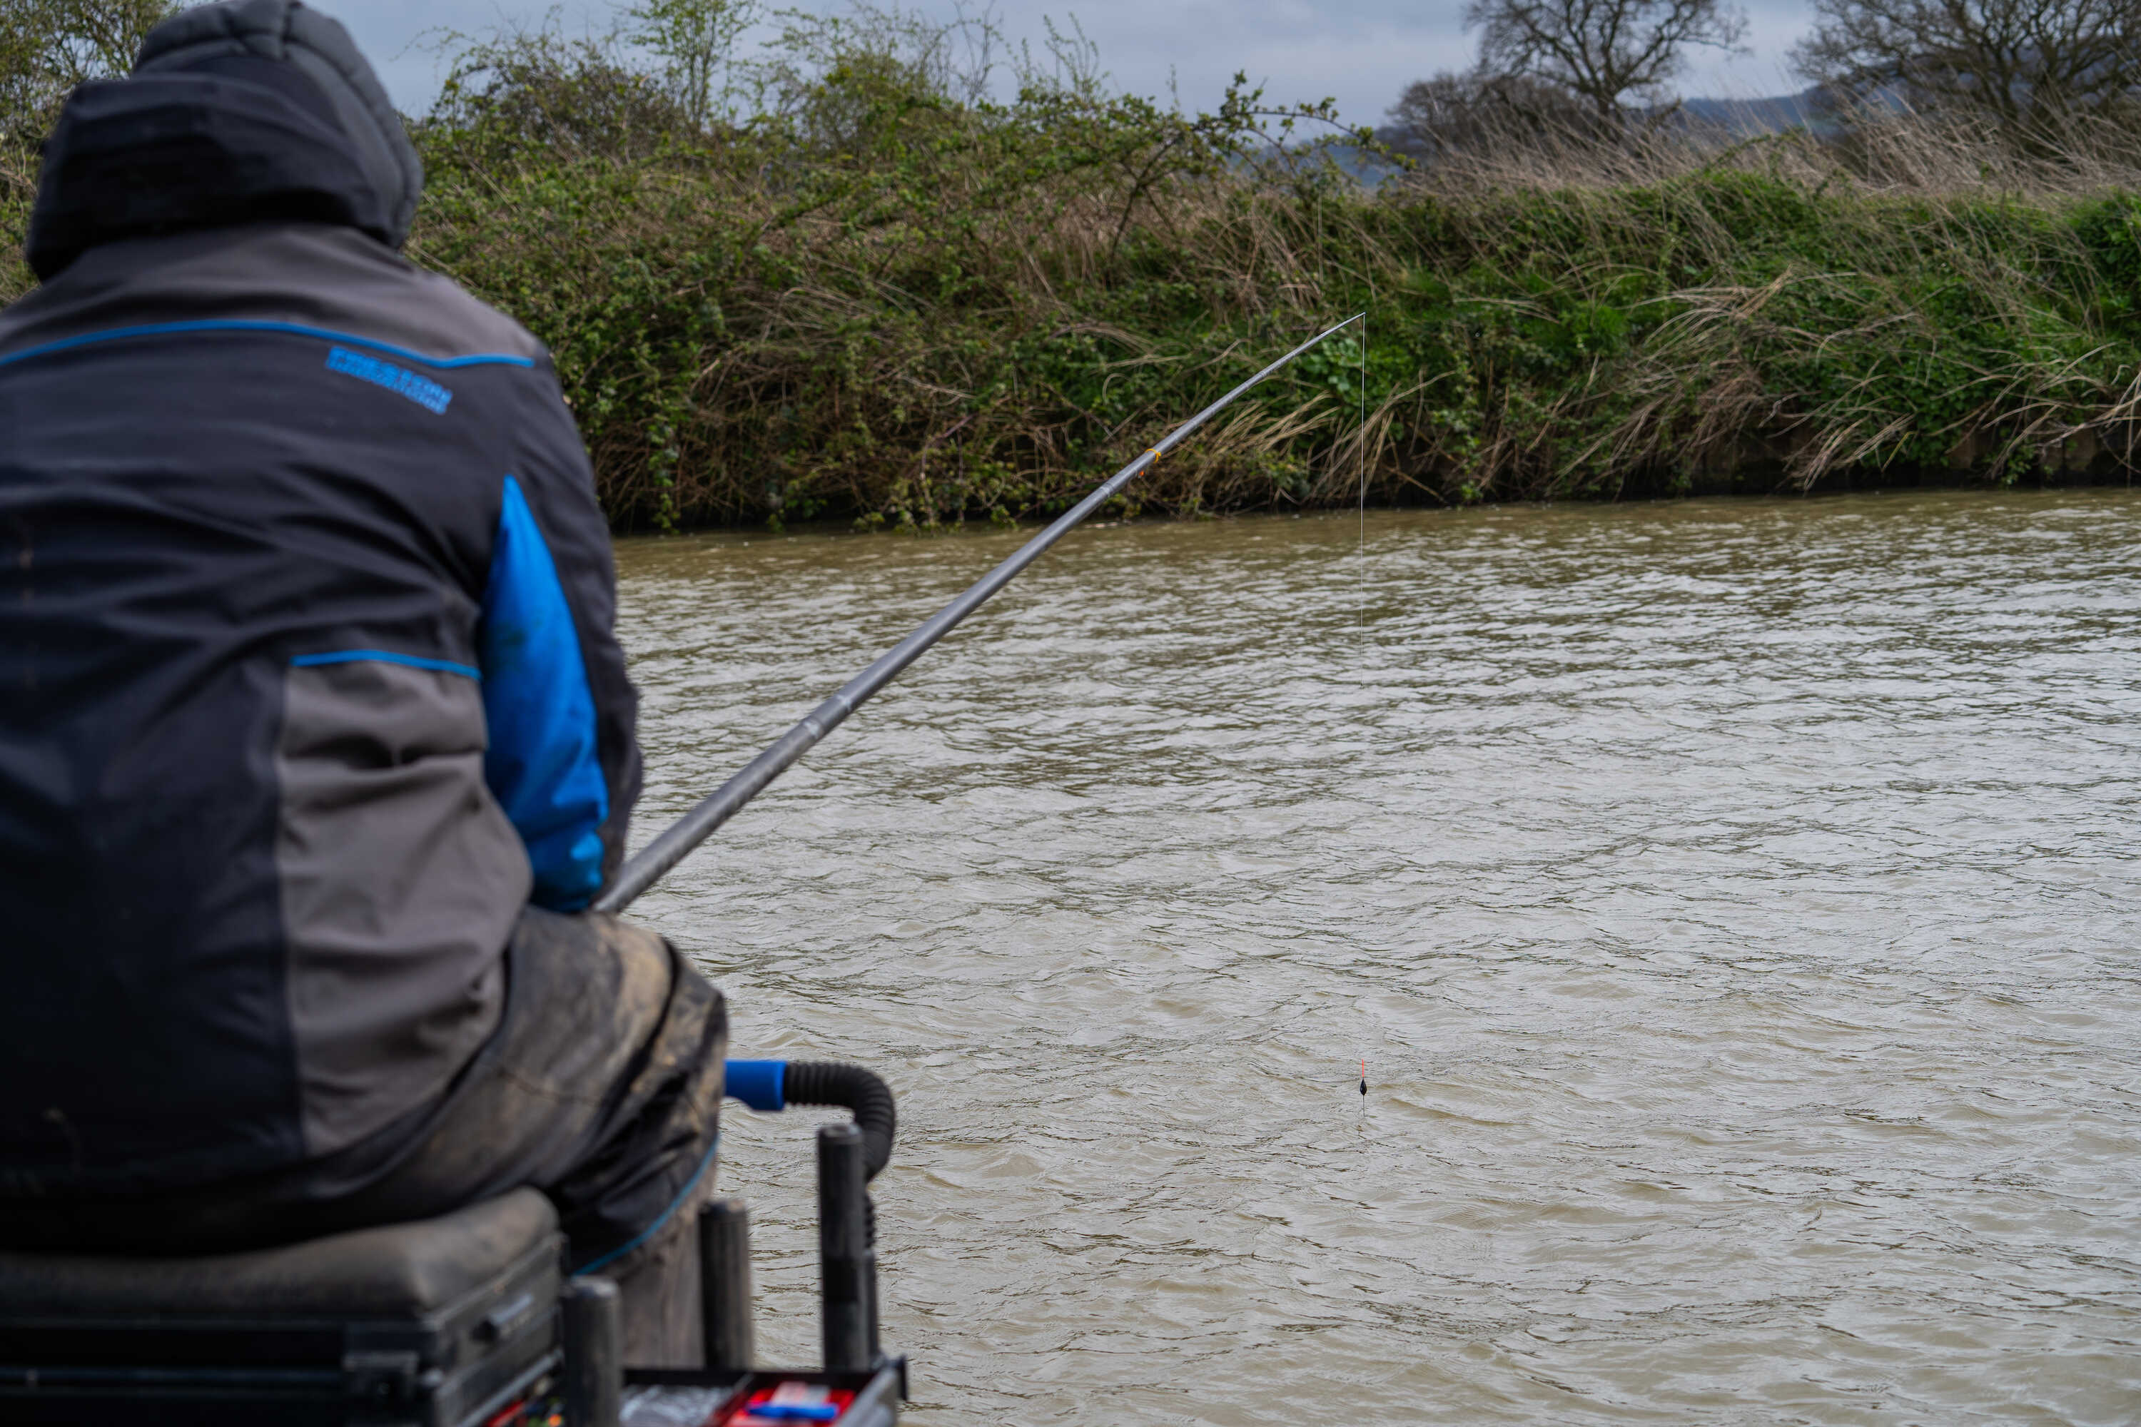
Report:
[{"label": "rippled murky brown-grey river water", "polygon": [[[1017,539],[623,543],[638,837]],[[2130,1423],[2137,674],[2128,492],[1092,528],[638,914],[916,1423]]]}]

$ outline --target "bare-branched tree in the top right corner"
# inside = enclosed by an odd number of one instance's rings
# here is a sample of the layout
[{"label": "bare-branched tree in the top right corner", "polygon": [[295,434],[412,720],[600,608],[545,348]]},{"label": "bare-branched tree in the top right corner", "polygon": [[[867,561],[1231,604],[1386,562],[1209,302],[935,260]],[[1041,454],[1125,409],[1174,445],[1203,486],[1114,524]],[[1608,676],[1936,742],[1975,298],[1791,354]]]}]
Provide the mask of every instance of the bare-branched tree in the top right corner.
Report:
[{"label": "bare-branched tree in the top right corner", "polygon": [[2023,131],[2141,83],[2141,0],[1816,0],[1798,71],[1843,94],[1901,90]]}]

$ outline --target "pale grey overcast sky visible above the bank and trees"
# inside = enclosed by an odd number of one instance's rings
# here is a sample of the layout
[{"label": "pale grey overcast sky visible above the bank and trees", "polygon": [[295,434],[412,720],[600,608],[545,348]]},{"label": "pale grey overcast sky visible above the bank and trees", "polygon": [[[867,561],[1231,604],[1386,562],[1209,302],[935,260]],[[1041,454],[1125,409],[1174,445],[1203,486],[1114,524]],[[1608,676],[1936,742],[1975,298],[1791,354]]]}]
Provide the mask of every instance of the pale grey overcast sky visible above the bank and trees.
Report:
[{"label": "pale grey overcast sky visible above the bank and trees", "polygon": [[[482,32],[501,21],[540,21],[552,9],[572,30],[599,30],[612,15],[606,0],[310,2],[351,28],[409,111],[422,109],[439,81],[437,53],[417,41],[426,30]],[[816,0],[809,9],[839,9],[839,0]],[[953,0],[921,0],[910,9],[951,15]],[[1227,79],[1248,71],[1272,101],[1334,96],[1347,122],[1375,124],[1409,81],[1464,68],[1473,58],[1462,0],[998,0],[996,13],[1013,39],[1038,39],[1045,15],[1058,21],[1077,15],[1118,88],[1165,96],[1173,75],[1190,109],[1212,107]],[[1790,73],[1788,49],[1805,30],[1805,0],[1756,0],[1749,19],[1751,53],[1728,60],[1698,53],[1679,86],[1683,94],[1749,98],[1803,88]]]}]

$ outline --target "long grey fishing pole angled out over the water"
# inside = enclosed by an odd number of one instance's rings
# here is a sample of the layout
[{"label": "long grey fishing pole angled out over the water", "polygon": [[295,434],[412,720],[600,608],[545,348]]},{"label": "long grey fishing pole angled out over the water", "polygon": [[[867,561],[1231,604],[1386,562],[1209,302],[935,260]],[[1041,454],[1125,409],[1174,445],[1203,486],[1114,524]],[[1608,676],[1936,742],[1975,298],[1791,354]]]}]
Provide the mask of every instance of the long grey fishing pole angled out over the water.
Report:
[{"label": "long grey fishing pole angled out over the water", "polygon": [[1017,573],[1028,565],[1032,565],[1036,558],[1041,558],[1041,554],[1049,546],[1053,546],[1073,528],[1077,528],[1077,524],[1085,520],[1085,516],[1092,516],[1096,509],[1100,509],[1100,503],[1105,503],[1118,490],[1135,481],[1148,466],[1152,466],[1154,460],[1171,451],[1193,430],[1197,430],[1214,415],[1225,411],[1233,402],[1233,398],[1242,396],[1252,385],[1257,385],[1272,372],[1280,370],[1282,366],[1300,357],[1304,351],[1308,351],[1323,338],[1345,327],[1351,327],[1362,317],[1366,317],[1366,312],[1355,312],[1336,327],[1327,327],[1317,336],[1308,338],[1306,342],[1289,351],[1285,357],[1263,368],[1261,372],[1244,381],[1240,387],[1235,387],[1227,396],[1218,398],[1216,402],[1193,415],[1175,430],[1167,432],[1165,441],[1160,441],[1156,447],[1133,460],[1128,466],[1107,477],[1107,481],[1103,481],[1090,496],[1085,496],[1068,511],[1058,516],[1047,531],[1026,541],[1026,546],[1021,546],[1017,554],[1013,554],[1008,561],[1004,561],[987,576],[976,580],[972,588],[953,599],[948,605],[944,605],[927,620],[923,620],[921,627],[906,640],[878,655],[876,663],[871,663],[867,670],[844,682],[833,693],[833,697],[829,697],[826,702],[818,704],[818,708],[803,715],[803,719],[792,730],[775,738],[764,753],[760,753],[743,768],[739,768],[734,777],[730,777],[717,789],[707,794],[689,813],[685,813],[668,828],[664,828],[655,841],[647,843],[647,847],[638,851],[638,856],[627,858],[625,864],[617,869],[617,879],[610,881],[610,886],[604,888],[602,896],[595,899],[593,909],[623,911],[634,901],[638,901],[640,892],[644,892],[662,877],[666,877],[672,866],[677,866],[692,854],[694,847],[713,837],[713,832],[724,822],[737,815],[737,809],[756,798],[766,787],[766,783],[781,777],[781,772],[786,772],[790,764],[809,753],[809,749],[820,738],[839,727],[848,719],[848,715],[861,708],[871,693],[899,678],[901,670],[914,663],[914,659],[921,657],[925,648],[929,648],[946,633],[951,633],[951,629],[968,614],[972,614],[985,599],[989,599],[989,595],[1011,584],[1017,578]]}]

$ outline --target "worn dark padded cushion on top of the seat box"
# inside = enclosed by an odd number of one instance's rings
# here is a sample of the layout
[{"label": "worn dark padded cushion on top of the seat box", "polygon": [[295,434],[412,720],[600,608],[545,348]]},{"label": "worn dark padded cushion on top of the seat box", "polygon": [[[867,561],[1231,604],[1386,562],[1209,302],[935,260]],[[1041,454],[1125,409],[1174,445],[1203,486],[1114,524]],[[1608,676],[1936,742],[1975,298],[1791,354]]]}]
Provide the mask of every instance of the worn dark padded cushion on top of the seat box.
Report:
[{"label": "worn dark padded cushion on top of the seat box", "polygon": [[0,1254],[0,1320],[420,1318],[492,1282],[555,1234],[550,1200],[514,1190],[437,1219],[246,1254]]}]

